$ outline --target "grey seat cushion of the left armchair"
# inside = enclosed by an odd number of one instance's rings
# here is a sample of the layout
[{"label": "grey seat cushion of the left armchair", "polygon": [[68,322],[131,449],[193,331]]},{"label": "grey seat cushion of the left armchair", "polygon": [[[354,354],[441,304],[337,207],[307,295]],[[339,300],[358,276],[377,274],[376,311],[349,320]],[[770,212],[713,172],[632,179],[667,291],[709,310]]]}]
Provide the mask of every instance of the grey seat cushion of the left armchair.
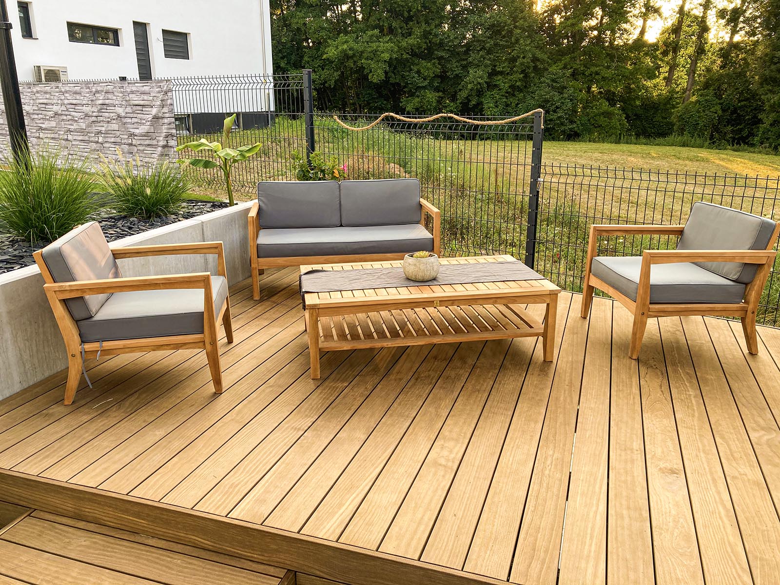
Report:
[{"label": "grey seat cushion of the left armchair", "polygon": [[[228,296],[224,276],[211,277],[215,314]],[[203,333],[203,289],[114,293],[94,317],[79,321],[83,342]]]}]

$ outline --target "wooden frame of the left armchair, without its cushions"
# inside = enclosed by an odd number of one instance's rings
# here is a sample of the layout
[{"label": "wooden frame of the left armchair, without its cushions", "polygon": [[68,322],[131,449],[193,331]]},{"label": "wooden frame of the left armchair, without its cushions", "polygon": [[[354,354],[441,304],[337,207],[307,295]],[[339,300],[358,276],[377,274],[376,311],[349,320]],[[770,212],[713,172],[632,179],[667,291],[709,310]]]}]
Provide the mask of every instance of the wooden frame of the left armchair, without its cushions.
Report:
[{"label": "wooden frame of the left armchair, without its cushions", "polygon": [[[128,246],[112,250],[115,258],[134,258],[161,256],[163,254],[213,254],[217,257],[217,274],[227,278],[225,252],[222,242],[162,244],[157,246]],[[225,327],[225,338],[233,342],[230,317],[230,298],[217,315],[214,310],[214,296],[211,290],[211,274],[195,272],[183,275],[137,276],[129,278],[105,278],[101,280],[55,282],[51,276],[41,250],[34,252],[35,263],[44,277],[44,293],[48,298],[57,325],[62,333],[68,353],[68,381],[65,388],[66,405],[73,403],[81,380],[81,337],[79,328],[66,306],[65,301],[76,296],[88,296],[102,293],[127,293],[140,290],[203,289],[204,293],[204,332],[192,335],[168,335],[165,337],[147,337],[140,339],[116,339],[105,342],[86,342],[83,344],[84,358],[114,356],[119,353],[163,351],[172,349],[204,349],[214,382],[215,392],[222,393],[222,367],[219,361],[218,320]]]}]

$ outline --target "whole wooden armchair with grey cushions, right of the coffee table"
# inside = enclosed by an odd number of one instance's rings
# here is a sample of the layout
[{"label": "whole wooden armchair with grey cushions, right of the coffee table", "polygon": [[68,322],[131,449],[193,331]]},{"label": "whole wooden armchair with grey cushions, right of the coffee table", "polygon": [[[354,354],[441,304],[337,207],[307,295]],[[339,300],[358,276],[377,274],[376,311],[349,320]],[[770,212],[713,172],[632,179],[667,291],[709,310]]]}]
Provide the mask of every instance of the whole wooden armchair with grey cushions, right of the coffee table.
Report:
[{"label": "whole wooden armchair with grey cushions, right of the coffee table", "polygon": [[[633,314],[629,356],[636,359],[647,319],[675,315],[740,317],[747,349],[758,353],[756,313],[780,225],[719,205],[693,204],[686,225],[592,225],[580,314],[594,289]],[[676,250],[644,250],[641,257],[597,256],[602,236],[680,236]]]}]

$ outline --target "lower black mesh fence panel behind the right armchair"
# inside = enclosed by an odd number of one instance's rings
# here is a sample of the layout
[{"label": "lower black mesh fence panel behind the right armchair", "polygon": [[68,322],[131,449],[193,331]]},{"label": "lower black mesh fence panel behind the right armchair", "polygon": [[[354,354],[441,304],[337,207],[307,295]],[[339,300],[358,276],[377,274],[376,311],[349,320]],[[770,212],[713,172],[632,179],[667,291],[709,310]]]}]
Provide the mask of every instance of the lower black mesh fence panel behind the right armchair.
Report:
[{"label": "lower black mesh fence panel behind the right armchair", "polygon": [[[695,201],[780,219],[780,177],[542,165],[535,268],[562,289],[583,288],[591,224],[686,222]],[[674,236],[612,236],[598,254],[638,256],[674,248]],[[780,325],[780,261],[761,299],[759,322]]]}]

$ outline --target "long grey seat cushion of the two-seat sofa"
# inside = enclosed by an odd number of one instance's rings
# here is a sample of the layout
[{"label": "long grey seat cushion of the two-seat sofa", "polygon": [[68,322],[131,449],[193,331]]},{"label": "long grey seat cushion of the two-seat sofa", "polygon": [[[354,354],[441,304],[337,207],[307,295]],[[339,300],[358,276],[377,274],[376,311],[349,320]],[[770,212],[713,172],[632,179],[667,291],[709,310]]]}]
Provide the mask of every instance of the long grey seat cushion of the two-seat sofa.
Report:
[{"label": "long grey seat cushion of the two-seat sofa", "polygon": [[257,255],[261,258],[394,254],[433,249],[433,236],[420,224],[261,229],[257,236]]}]

